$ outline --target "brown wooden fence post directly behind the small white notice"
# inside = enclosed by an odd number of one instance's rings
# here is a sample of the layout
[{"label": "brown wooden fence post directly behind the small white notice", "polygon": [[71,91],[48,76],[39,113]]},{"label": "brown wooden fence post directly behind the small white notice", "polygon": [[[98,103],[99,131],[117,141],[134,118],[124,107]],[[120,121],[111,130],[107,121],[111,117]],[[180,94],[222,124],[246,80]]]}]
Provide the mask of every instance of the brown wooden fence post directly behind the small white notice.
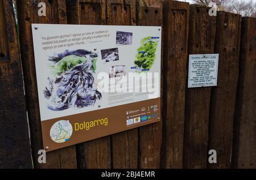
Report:
[{"label": "brown wooden fence post directly behind the small white notice", "polygon": [[[191,5],[189,54],[212,54],[216,17],[208,8]],[[187,86],[187,84],[186,84]],[[184,168],[206,168],[211,87],[187,88],[185,105]]]}]

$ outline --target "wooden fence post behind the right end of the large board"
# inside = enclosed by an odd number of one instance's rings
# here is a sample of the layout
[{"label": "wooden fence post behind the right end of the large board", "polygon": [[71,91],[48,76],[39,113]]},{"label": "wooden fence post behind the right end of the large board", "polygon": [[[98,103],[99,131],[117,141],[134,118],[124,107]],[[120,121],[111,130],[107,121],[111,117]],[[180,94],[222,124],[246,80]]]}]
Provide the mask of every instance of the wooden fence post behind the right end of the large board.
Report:
[{"label": "wooden fence post behind the right end of the large board", "polygon": [[[154,0],[137,0],[137,25],[162,26],[162,4]],[[161,116],[162,118],[162,116]],[[159,168],[162,145],[162,119],[139,128],[139,168]]]}]

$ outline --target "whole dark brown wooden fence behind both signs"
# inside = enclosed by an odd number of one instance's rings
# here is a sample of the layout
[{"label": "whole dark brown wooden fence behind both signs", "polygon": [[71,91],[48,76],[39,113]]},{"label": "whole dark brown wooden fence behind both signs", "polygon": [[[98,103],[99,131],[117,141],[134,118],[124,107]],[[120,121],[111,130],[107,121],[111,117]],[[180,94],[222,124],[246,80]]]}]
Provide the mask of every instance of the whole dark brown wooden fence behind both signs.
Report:
[{"label": "whole dark brown wooden fence behind both signs", "polygon": [[[16,7],[18,25],[13,3],[0,1],[0,168],[256,168],[255,18],[209,16],[207,7],[171,0],[19,0]],[[47,152],[39,164],[31,23],[162,25],[162,121]],[[217,87],[187,88],[188,54],[211,53],[220,54]]]}]

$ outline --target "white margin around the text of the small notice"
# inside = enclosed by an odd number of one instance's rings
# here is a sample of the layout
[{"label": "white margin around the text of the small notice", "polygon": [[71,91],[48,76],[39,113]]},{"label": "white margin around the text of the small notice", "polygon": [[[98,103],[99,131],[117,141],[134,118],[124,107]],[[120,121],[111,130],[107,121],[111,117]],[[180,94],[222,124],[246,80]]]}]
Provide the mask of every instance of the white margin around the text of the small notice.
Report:
[{"label": "white margin around the text of the small notice", "polygon": [[[190,70],[191,70],[191,57],[201,57],[201,59],[203,58],[207,58],[209,55],[216,55],[217,56],[217,63],[216,63],[216,84],[211,84],[211,85],[191,85],[189,84],[190,80],[189,80],[189,77],[190,77]],[[198,87],[212,87],[212,86],[217,86],[217,82],[218,82],[218,57],[219,57],[219,54],[189,54],[189,66],[188,66],[188,88],[198,88]]]}]

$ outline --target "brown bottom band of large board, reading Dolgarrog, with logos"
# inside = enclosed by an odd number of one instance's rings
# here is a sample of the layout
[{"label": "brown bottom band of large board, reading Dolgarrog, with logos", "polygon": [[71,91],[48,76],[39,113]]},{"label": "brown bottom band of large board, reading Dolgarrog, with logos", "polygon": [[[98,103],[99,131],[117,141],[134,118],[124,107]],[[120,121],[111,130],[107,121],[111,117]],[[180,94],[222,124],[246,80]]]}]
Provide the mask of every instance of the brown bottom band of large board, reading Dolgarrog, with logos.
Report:
[{"label": "brown bottom band of large board, reading Dolgarrog, with logos", "polygon": [[42,121],[43,144],[53,151],[160,121],[160,97]]}]

